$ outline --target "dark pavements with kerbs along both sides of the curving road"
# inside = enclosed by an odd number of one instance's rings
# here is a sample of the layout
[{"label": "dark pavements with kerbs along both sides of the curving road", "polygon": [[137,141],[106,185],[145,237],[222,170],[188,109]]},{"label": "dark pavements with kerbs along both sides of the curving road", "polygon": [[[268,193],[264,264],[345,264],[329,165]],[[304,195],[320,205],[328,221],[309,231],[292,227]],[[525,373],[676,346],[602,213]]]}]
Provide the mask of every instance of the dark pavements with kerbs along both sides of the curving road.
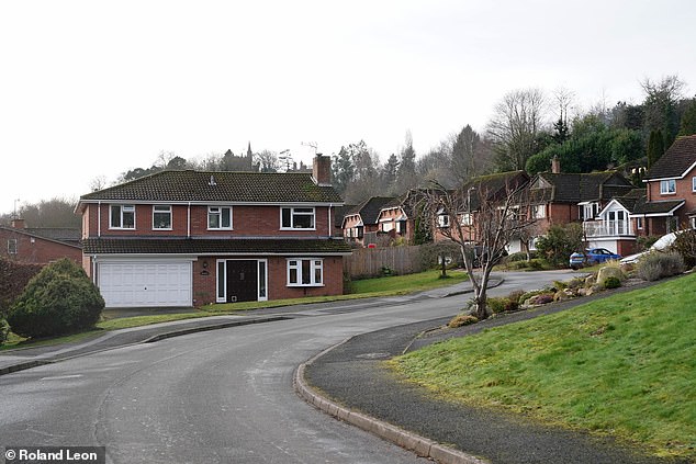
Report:
[{"label": "dark pavements with kerbs along both sides of the curving road", "polygon": [[[497,276],[491,285],[503,280]],[[622,290],[618,290],[622,291]],[[135,343],[147,343],[179,335],[288,318],[349,312],[366,306],[403,304],[418,298],[441,298],[471,292],[471,284],[389,297],[266,308],[239,315],[206,317],[156,324],[94,335],[79,342],[15,349],[0,352],[0,375],[59,362],[75,357]],[[595,296],[602,297],[602,296]],[[437,330],[447,319],[398,326],[346,340],[301,365],[295,387],[317,408],[375,433],[385,440],[441,463],[681,463],[636,454],[635,450],[608,437],[546,427],[519,416],[471,408],[428,396],[422,388],[403,382],[382,361],[409,349],[447,337],[465,336],[499,324],[564,310],[593,297],[543,309],[494,318],[457,331]],[[321,313],[319,313],[321,309]],[[142,309],[132,312],[143,314]],[[120,316],[128,316],[121,312]],[[436,330],[433,330],[436,328]]]}]

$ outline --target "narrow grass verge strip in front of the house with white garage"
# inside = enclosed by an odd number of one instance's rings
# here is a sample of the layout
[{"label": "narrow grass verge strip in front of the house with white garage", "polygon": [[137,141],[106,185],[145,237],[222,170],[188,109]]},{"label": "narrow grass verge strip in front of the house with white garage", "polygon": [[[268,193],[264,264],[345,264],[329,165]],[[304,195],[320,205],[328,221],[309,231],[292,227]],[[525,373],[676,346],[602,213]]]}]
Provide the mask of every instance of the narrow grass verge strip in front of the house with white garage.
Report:
[{"label": "narrow grass verge strip in front of the house with white garage", "polygon": [[[422,292],[438,286],[453,285],[461,282],[467,278],[467,274],[461,271],[448,271],[449,279],[439,279],[440,271],[426,271],[417,274],[409,275],[394,275],[389,278],[379,279],[366,279],[355,281],[351,284],[351,293],[348,295],[336,296],[315,296],[306,298],[292,298],[292,299],[274,299],[270,302],[245,302],[245,303],[225,303],[206,305],[200,309],[192,309],[190,313],[178,314],[153,314],[147,316],[135,317],[122,317],[105,319],[97,325],[101,330],[116,330],[131,327],[147,326],[158,322],[170,322],[173,320],[193,319],[199,317],[220,316],[224,314],[234,314],[242,310],[258,309],[258,308],[271,308],[271,307],[291,307],[295,305],[303,305],[310,303],[325,303],[344,299],[357,299],[368,298],[377,296],[393,296],[403,295],[413,292]],[[93,332],[93,330],[92,330]],[[11,335],[10,340],[3,346],[0,346],[0,350],[8,350],[19,347],[33,347],[37,343],[63,343],[68,341],[76,341],[76,337],[80,335],[72,335],[67,337],[60,337],[49,340],[41,340],[36,342],[26,341],[20,337]]]}]

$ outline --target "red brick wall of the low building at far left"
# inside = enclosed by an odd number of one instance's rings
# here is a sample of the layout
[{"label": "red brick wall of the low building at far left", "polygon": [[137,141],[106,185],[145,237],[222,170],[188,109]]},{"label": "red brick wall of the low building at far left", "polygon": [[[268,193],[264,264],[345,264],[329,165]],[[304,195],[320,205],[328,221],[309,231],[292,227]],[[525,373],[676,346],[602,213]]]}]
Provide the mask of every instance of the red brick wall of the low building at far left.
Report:
[{"label": "red brick wall of the low building at far left", "polygon": [[[10,239],[16,239],[16,254],[8,253]],[[32,264],[47,264],[60,258],[69,258],[78,264],[82,262],[80,248],[8,229],[0,229],[0,256],[12,261]]]}]

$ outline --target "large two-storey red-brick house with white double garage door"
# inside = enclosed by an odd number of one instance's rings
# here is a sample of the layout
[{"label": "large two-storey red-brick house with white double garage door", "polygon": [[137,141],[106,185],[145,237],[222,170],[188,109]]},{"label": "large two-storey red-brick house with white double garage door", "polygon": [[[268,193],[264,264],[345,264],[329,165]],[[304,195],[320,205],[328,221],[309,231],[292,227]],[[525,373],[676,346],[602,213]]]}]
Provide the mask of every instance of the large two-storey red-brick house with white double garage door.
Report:
[{"label": "large two-storey red-brick house with white double garage door", "polygon": [[82,265],[108,307],[343,293],[330,158],[311,173],[162,171],[83,195]]}]

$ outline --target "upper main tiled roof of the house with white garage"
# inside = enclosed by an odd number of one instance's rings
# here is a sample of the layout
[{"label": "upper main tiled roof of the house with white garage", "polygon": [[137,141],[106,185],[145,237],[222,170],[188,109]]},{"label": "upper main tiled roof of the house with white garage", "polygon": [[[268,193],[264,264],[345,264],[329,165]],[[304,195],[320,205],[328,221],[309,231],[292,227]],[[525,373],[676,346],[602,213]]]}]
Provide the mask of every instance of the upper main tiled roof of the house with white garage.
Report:
[{"label": "upper main tiled roof of the house with white garage", "polygon": [[82,195],[91,201],[343,203],[311,173],[161,171]]}]

